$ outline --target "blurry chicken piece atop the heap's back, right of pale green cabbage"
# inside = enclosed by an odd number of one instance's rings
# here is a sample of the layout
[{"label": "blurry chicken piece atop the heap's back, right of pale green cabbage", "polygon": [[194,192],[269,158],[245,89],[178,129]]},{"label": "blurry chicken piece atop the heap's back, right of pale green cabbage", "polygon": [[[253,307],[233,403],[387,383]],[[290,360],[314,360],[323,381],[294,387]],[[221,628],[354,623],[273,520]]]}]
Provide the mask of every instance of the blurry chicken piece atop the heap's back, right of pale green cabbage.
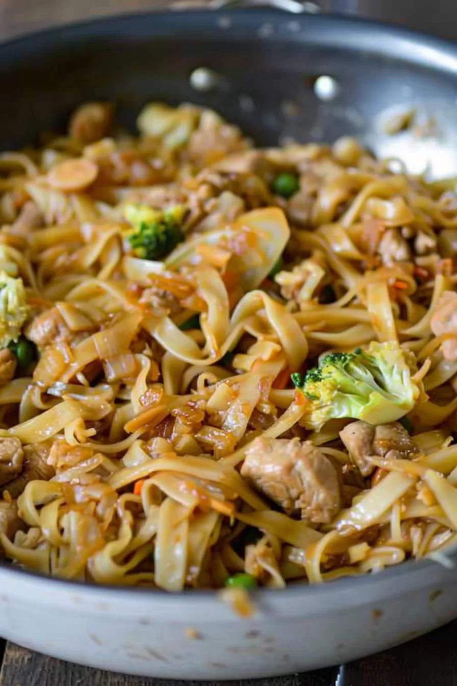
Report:
[{"label": "blurry chicken piece atop the heap's back, right of pale green cabbage", "polygon": [[247,147],[236,126],[227,124],[211,110],[204,110],[199,127],[190,135],[187,153],[191,161],[203,168]]}]

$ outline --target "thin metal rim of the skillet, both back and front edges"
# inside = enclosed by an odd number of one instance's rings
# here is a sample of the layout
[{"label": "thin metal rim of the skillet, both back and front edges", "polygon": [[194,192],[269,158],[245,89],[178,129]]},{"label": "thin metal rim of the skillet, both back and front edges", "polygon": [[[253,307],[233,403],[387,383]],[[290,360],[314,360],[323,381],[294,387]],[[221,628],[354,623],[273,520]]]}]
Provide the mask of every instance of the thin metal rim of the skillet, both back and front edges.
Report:
[{"label": "thin metal rim of the skillet, both back and front edges", "polygon": [[[435,69],[446,71],[445,64],[441,64],[440,67],[439,60],[436,62],[436,59],[432,59],[441,55],[441,58],[443,58],[444,62],[447,63],[447,71],[452,71],[457,74],[457,43],[454,44],[450,40],[436,38],[435,36],[430,36],[429,34],[423,32],[416,32],[412,29],[406,29],[397,25],[365,19],[363,17],[342,16],[337,14],[285,14],[280,10],[259,8],[249,10],[208,10],[207,8],[193,10],[169,10],[163,8],[161,10],[146,10],[144,12],[126,12],[123,14],[95,16],[84,21],[62,23],[53,27],[40,29],[38,31],[30,31],[25,32],[25,34],[10,36],[5,40],[0,41],[0,56],[10,50],[18,50],[18,55],[20,56],[22,48],[27,48],[29,51],[33,52],[42,43],[47,43],[49,46],[53,45],[54,43],[64,43],[67,37],[77,37],[80,34],[84,34],[88,31],[93,32],[95,36],[97,28],[102,27],[105,29],[112,28],[113,31],[116,32],[119,37],[121,37],[123,33],[125,33],[123,31],[123,26],[125,26],[125,23],[138,23],[138,25],[144,29],[145,19],[158,19],[159,21],[162,21],[169,20],[171,17],[173,17],[176,19],[176,21],[183,21],[185,25],[188,25],[189,21],[195,21],[197,19],[201,21],[202,16],[206,16],[208,18],[211,17],[212,22],[214,23],[216,23],[218,17],[220,18],[221,16],[227,16],[233,20],[239,20],[241,17],[244,17],[243,23],[245,24],[254,20],[259,21],[259,19],[273,24],[277,22],[286,24],[293,21],[294,23],[309,23],[311,26],[314,26],[314,28],[345,27],[347,29],[353,29],[353,32],[357,33],[359,32],[360,28],[363,27],[365,30],[368,29],[368,38],[370,43],[373,43],[373,37],[376,35],[387,35],[394,39],[403,39],[410,48],[417,50],[417,48],[420,47],[430,50],[428,58],[430,58],[429,61],[431,60],[432,63],[434,63]],[[116,29],[118,30],[116,31]],[[344,33],[345,32],[341,32],[341,34]],[[223,35],[229,36],[230,32],[227,32]],[[281,39],[286,38],[286,36],[282,34],[273,34],[271,38],[258,38],[258,40],[277,40],[278,36],[280,36]],[[312,34],[309,34],[306,36],[306,38],[309,39],[310,36],[312,37]],[[288,38],[290,38],[290,40],[299,38],[299,32],[296,34],[289,32]],[[347,49],[354,49],[353,34],[349,32],[349,34],[345,36],[344,40],[340,38],[336,47],[347,47]],[[371,54],[377,55],[384,54],[385,50],[377,51],[375,49],[371,49],[370,52]],[[399,56],[394,55],[393,58],[399,58]],[[407,58],[406,61],[408,61]],[[451,64],[451,62],[455,64]],[[423,66],[427,66],[426,61],[423,62]],[[8,64],[8,69],[14,69],[14,61]],[[457,560],[457,551],[447,554],[447,556],[451,560]],[[391,591],[390,593],[386,594],[386,598],[393,597],[403,592],[401,584],[398,584],[397,587],[392,588],[393,585],[395,585],[393,582],[403,578],[404,576],[408,576],[408,578],[412,578],[413,575],[415,578],[419,578],[421,574],[432,576],[432,571],[436,569],[436,565],[439,565],[439,563],[434,560],[408,560],[399,565],[395,565],[395,567],[386,569],[380,574],[360,575],[357,578],[341,578],[336,580],[336,582],[329,582],[321,585],[293,584],[287,586],[285,589],[258,589],[257,591],[253,592],[253,596],[254,598],[265,598],[267,596],[269,598],[273,598],[273,596],[275,596],[275,598],[300,597],[303,600],[306,600],[306,598],[310,597],[325,598],[326,596],[333,595],[334,592],[338,593],[338,591],[347,592],[356,590],[359,591],[358,595],[362,596],[375,585],[380,586],[382,584],[383,586],[386,585],[391,587]],[[449,574],[449,570],[446,570],[444,567],[442,569],[442,582],[445,583],[445,572],[447,571]],[[454,571],[452,570],[450,573],[454,573]],[[20,567],[14,567],[0,561],[0,578],[7,580],[8,577],[12,577],[14,579],[22,578],[23,580],[34,580],[34,582],[38,582],[39,584],[43,585],[52,584],[53,587],[57,587],[59,585],[61,589],[69,589],[73,591],[77,590],[79,594],[86,594],[88,598],[97,593],[102,595],[114,593],[116,598],[119,600],[127,600],[134,597],[145,598],[145,594],[147,594],[151,599],[153,598],[155,600],[161,600],[162,602],[166,602],[167,600],[174,602],[176,598],[180,598],[183,601],[188,599],[202,600],[203,598],[206,598],[207,600],[216,600],[216,595],[218,592],[214,590],[186,589],[186,591],[183,591],[182,593],[171,594],[162,589],[132,588],[125,586],[112,586],[109,584],[87,584],[75,580],[47,577],[40,573],[29,571],[27,569],[21,569]],[[325,610],[325,608],[323,608],[323,610]]]}]

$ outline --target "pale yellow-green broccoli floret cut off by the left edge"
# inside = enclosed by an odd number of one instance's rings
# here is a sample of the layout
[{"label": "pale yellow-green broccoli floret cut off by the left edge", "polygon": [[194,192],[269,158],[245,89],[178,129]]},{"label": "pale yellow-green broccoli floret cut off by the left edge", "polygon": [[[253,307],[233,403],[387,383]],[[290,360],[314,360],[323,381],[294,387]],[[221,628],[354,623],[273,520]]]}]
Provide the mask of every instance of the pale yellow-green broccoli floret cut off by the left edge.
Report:
[{"label": "pale yellow-green broccoli floret cut off by the left edge", "polygon": [[23,280],[0,272],[0,349],[18,340],[28,314]]}]

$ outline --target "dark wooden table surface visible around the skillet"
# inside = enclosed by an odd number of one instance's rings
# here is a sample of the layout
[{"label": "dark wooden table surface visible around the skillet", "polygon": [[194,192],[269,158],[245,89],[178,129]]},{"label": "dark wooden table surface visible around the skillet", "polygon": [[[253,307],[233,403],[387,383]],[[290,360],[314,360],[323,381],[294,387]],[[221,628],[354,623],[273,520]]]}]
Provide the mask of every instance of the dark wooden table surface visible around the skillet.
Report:
[{"label": "dark wooden table surface visible around the skillet", "polygon": [[[0,0],[0,38],[89,16],[134,12],[160,7],[161,0]],[[325,11],[359,13],[397,21],[445,38],[457,38],[456,0],[321,0]],[[350,627],[348,627],[350,630]],[[357,663],[249,686],[457,686],[457,622]],[[0,686],[197,686],[197,682],[167,682],[111,674],[71,665],[0,641]],[[192,674],[189,674],[192,678]],[[227,682],[239,684],[239,682]]]}]

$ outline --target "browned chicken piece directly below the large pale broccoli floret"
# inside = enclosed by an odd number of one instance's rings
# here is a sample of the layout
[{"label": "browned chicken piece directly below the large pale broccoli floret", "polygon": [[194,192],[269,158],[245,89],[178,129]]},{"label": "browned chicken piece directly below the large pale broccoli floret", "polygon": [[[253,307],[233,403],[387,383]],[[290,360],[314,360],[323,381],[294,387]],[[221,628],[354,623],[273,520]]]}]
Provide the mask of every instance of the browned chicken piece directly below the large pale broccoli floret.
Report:
[{"label": "browned chicken piece directly below the large pale broccoli floret", "polygon": [[376,466],[370,456],[385,460],[408,460],[419,447],[408,431],[398,422],[373,426],[367,422],[351,422],[340,431],[340,437],[360,473],[369,476]]}]

